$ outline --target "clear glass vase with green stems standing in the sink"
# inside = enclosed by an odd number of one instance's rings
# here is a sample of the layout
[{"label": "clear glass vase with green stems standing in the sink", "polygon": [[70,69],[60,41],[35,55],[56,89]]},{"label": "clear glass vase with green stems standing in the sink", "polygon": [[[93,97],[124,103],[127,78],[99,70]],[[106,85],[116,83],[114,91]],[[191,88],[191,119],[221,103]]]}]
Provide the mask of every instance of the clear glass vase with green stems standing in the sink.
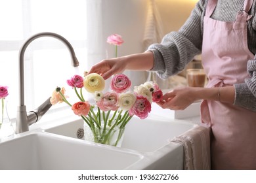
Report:
[{"label": "clear glass vase with green stems standing in the sink", "polygon": [[84,129],[85,141],[117,147],[121,146],[125,133],[125,127],[116,126],[112,128],[108,125],[104,125],[103,123],[100,127],[97,127],[96,125],[94,127],[89,127],[89,125],[85,123]]}]

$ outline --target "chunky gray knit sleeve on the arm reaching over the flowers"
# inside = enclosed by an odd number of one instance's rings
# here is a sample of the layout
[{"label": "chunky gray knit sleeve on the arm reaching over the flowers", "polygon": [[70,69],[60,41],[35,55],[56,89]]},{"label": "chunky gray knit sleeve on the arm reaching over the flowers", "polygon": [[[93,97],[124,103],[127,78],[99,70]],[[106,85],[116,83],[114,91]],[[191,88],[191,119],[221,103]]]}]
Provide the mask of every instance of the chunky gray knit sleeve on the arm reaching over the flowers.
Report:
[{"label": "chunky gray knit sleeve on the arm reaching over the flowers", "polygon": [[161,44],[152,44],[147,51],[154,54],[154,67],[161,78],[181,72],[202,50],[202,14],[205,1],[199,1],[179,31],[163,37]]}]

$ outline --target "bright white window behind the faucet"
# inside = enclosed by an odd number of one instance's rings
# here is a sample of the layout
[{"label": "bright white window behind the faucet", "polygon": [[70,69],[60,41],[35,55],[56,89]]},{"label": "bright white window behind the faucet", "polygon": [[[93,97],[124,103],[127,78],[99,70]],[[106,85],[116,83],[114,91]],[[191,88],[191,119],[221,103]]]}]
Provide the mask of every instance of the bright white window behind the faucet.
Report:
[{"label": "bright white window behind the faucet", "polygon": [[[74,47],[79,68],[87,69],[86,1],[1,0],[0,24],[0,85],[9,87],[7,101],[11,118],[16,118],[18,106],[18,52],[26,39],[35,33],[47,31],[65,37]],[[74,75],[70,60],[66,46],[52,37],[41,37],[28,46],[24,56],[28,111],[41,105],[56,86],[64,86],[66,79]]]}]

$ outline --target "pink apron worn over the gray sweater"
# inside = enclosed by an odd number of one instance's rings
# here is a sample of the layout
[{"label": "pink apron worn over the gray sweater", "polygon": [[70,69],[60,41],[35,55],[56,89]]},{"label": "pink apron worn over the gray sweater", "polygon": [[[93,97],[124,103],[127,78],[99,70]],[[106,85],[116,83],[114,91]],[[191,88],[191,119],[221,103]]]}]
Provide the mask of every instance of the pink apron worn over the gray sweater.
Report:
[{"label": "pink apron worn over the gray sweater", "polygon": [[[209,0],[203,25],[202,64],[206,87],[243,83],[248,78],[247,14],[253,0],[244,1],[236,22],[210,18],[217,0]],[[256,169],[256,112],[219,101],[202,101],[203,125],[211,127],[212,169]]]}]

